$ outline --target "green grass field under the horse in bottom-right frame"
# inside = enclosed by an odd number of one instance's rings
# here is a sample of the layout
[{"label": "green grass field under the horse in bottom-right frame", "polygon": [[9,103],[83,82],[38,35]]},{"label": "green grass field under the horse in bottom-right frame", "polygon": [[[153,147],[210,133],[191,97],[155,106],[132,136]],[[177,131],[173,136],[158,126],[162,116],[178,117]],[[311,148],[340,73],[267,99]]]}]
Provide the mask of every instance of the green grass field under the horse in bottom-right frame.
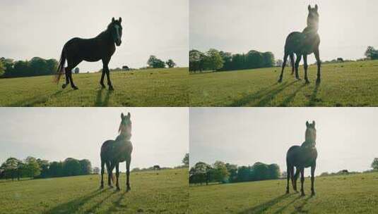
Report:
[{"label": "green grass field under the horse in bottom-right frame", "polygon": [[376,172],[316,177],[314,197],[310,184],[303,197],[285,194],[285,180],[191,186],[189,213],[377,213]]}]

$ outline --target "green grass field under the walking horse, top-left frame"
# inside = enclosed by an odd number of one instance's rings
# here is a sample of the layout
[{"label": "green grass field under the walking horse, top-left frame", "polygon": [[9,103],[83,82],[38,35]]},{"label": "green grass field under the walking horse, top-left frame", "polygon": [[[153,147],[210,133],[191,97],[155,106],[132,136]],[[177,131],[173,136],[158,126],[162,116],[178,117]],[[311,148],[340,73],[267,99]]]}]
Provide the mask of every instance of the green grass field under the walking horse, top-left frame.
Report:
[{"label": "green grass field under the walking horse, top-left frame", "polygon": [[188,106],[187,68],[111,72],[114,92],[101,89],[100,75],[73,75],[76,91],[52,76],[0,79],[0,106]]}]

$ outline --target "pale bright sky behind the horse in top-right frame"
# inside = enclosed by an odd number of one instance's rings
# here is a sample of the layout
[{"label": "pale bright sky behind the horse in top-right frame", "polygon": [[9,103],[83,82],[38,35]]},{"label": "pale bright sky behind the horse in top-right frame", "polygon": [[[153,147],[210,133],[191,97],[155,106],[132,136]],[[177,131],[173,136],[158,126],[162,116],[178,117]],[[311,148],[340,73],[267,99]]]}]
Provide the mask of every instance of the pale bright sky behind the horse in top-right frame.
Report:
[{"label": "pale bright sky behind the horse in top-right frame", "polygon": [[[271,51],[282,59],[288,34],[307,25],[309,4],[319,6],[322,61],[363,58],[367,46],[378,48],[378,1],[371,0],[191,0],[189,47]],[[314,61],[312,54],[309,62]]]}]

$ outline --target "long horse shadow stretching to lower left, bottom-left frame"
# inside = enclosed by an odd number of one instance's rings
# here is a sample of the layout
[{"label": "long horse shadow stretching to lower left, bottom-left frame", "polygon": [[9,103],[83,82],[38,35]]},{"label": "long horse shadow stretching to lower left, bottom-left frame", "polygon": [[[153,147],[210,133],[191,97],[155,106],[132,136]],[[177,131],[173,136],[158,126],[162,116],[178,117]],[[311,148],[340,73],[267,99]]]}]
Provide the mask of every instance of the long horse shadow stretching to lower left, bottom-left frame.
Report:
[{"label": "long horse shadow stretching to lower left, bottom-left frame", "polygon": [[46,214],[53,214],[53,213],[75,213],[78,209],[80,209],[82,206],[85,205],[85,203],[88,203],[92,199],[94,199],[96,196],[99,196],[100,194],[106,194],[104,196],[104,199],[102,199],[99,202],[96,202],[95,206],[92,206],[87,210],[85,213],[92,213],[93,210],[98,208],[106,199],[109,199],[112,194],[117,193],[117,191],[102,191],[100,189],[96,191],[92,191],[90,194],[87,194],[85,196],[81,196],[78,199],[72,199],[69,202],[61,203],[58,206],[55,206],[54,208],[51,208]]}]

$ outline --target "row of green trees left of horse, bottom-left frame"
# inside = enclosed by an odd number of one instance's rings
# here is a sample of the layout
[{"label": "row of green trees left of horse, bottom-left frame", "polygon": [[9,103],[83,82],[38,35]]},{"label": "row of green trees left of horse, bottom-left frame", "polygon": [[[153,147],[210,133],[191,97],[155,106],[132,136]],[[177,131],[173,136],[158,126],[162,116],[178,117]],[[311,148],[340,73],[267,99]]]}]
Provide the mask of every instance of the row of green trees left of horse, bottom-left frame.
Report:
[{"label": "row of green trees left of horse, bottom-left frame", "polygon": [[0,166],[0,179],[65,177],[89,175],[92,172],[92,165],[88,159],[66,158],[64,161],[49,162],[49,160],[28,156],[25,160],[6,159]]}]

